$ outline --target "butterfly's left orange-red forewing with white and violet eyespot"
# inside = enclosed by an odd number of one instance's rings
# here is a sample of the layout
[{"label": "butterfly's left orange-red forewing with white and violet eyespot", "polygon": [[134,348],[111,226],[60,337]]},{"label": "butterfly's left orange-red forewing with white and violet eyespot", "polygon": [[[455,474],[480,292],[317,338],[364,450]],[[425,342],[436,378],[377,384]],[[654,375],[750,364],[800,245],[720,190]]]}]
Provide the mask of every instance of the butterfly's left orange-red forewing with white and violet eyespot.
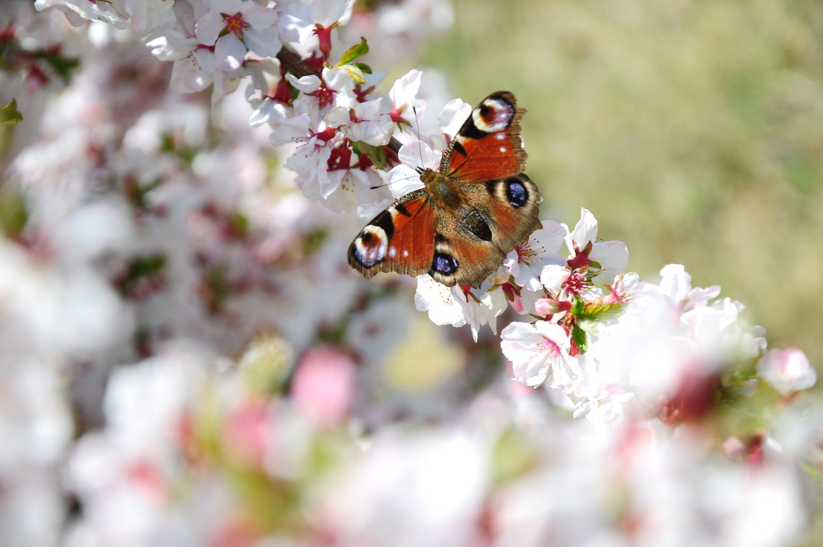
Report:
[{"label": "butterfly's left orange-red forewing with white and violet eyespot", "polygon": [[435,216],[425,190],[407,193],[360,230],[349,246],[349,265],[366,278],[379,271],[426,273],[435,253]]}]

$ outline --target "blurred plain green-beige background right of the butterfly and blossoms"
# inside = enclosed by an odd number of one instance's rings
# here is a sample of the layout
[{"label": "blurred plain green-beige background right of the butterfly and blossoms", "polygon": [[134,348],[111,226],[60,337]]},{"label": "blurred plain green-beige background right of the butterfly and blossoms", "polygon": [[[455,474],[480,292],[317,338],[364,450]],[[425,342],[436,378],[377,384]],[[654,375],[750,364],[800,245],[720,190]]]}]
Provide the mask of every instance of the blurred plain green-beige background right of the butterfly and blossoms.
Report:
[{"label": "blurred plain green-beige background right of the butterfly and blossoms", "polygon": [[544,218],[588,208],[630,269],[684,264],[819,367],[820,2],[453,3],[420,64],[472,104],[517,94]]}]

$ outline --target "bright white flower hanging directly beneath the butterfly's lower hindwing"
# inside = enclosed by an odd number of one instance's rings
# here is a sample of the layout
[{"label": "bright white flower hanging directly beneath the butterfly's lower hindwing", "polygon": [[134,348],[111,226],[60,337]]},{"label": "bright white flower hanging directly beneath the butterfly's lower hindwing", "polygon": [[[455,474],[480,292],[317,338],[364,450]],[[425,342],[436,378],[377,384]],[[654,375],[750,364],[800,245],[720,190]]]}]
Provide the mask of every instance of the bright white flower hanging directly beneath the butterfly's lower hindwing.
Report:
[{"label": "bright white flower hanging directly beneath the butterfly's lower hindwing", "polygon": [[435,325],[463,327],[468,323],[472,327],[474,341],[477,341],[480,327],[486,324],[496,334],[496,318],[506,309],[506,298],[499,288],[481,296],[473,292],[465,294],[458,285],[447,287],[429,274],[417,276],[414,303],[419,311],[429,313]]}]

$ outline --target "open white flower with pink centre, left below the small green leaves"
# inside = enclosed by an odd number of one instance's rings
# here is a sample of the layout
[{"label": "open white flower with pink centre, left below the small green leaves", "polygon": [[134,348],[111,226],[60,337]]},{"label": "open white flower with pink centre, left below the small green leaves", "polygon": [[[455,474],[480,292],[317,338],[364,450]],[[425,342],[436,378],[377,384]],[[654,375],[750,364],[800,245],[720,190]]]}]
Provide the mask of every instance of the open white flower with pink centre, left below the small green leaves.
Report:
[{"label": "open white flower with pink centre, left below the small green leaves", "polygon": [[512,363],[514,379],[527,386],[539,386],[553,375],[552,387],[567,391],[576,378],[569,335],[557,323],[509,323],[500,332],[500,349]]}]

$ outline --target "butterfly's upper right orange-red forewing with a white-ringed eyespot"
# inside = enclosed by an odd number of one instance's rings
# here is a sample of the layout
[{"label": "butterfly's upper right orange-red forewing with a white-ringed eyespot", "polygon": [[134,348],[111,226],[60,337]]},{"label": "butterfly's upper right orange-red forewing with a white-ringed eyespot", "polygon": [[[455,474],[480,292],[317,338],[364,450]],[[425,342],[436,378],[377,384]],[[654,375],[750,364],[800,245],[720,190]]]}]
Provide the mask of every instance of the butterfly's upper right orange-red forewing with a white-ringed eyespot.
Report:
[{"label": "butterfly's upper right orange-red forewing with a white-ringed eyespot", "polygon": [[460,183],[485,182],[523,172],[526,151],[514,94],[497,91],[482,100],[460,127],[440,162],[440,173]]}]

